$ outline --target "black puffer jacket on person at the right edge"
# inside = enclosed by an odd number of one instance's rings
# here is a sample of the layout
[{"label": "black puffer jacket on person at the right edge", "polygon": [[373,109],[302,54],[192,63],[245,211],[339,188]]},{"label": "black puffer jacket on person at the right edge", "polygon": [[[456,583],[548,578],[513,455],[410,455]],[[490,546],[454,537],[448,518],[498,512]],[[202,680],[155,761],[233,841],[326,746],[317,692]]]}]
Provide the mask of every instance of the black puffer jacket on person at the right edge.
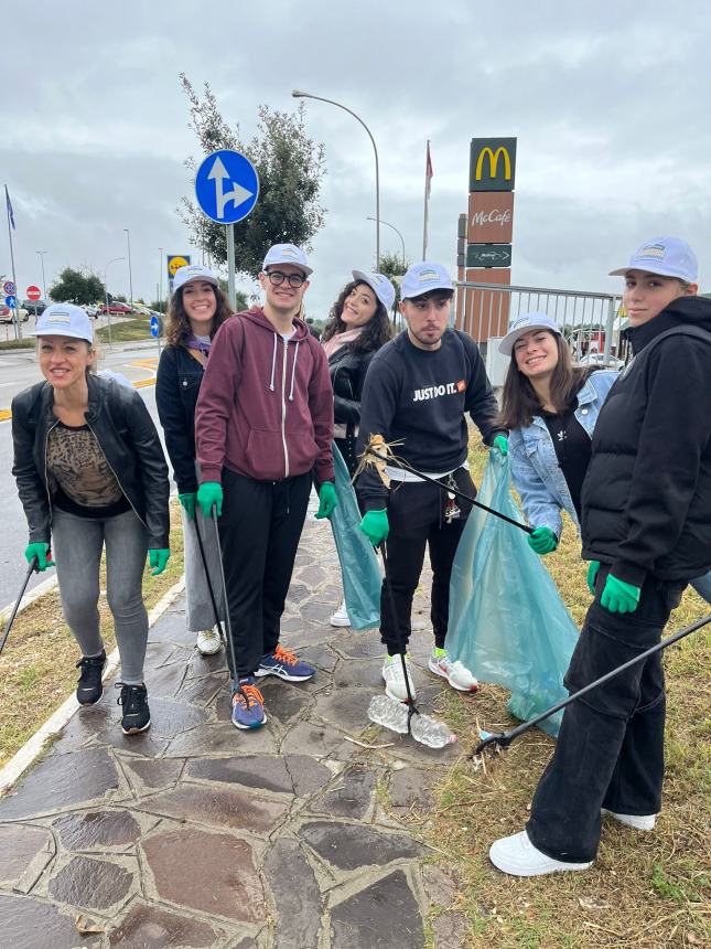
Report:
[{"label": "black puffer jacket on person at the right edge", "polygon": [[583,556],[642,586],[711,568],[711,300],[680,297],[629,332],[582,490]]}]

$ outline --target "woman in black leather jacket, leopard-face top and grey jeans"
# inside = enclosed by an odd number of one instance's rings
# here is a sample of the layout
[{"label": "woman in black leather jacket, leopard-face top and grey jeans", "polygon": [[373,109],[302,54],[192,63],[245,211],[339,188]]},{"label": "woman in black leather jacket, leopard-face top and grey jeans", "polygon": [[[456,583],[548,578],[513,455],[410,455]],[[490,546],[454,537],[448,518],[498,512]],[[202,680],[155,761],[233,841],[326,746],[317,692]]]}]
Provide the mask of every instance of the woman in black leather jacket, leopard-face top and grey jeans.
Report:
[{"label": "woman in black leather jacket, leopard-face top and grey jeans", "polygon": [[76,697],[103,695],[106,651],[99,628],[99,566],[121,657],[121,727],[151,724],[143,660],[148,615],[141,590],[146,554],[153,574],[170,556],[168,466],[134,388],[89,371],[93,330],[79,307],[55,303],[30,335],[45,382],[12,401],[12,473],[30,527],[25,557],[40,572],[56,557],[62,611],[82,650]]}]

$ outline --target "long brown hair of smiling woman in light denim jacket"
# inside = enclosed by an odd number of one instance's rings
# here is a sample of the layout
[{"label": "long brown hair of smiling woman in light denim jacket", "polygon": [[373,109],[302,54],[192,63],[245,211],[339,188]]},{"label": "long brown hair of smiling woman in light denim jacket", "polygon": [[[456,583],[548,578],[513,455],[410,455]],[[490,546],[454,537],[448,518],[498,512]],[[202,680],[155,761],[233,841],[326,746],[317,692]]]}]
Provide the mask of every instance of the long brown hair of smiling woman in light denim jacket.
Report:
[{"label": "long brown hair of smiling woman in light denim jacket", "polygon": [[[573,396],[578,395],[590,374],[595,371],[595,366],[573,365],[570,346],[563,337],[556,333],[554,339],[558,346],[558,365],[550,377],[550,401],[556,412],[560,413],[565,412]],[[503,428],[520,428],[530,425],[540,410],[541,404],[536,390],[516,365],[516,354],[511,353],[497,424]]]}]

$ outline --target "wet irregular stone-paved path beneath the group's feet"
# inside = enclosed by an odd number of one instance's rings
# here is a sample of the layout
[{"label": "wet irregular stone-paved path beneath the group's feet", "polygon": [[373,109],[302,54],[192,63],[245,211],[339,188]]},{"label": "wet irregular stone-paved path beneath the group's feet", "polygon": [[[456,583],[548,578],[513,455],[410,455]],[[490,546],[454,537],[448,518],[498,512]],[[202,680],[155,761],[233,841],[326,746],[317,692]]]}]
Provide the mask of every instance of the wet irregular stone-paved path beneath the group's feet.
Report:
[{"label": "wet irregular stone-paved path beneath the group's feet", "polygon": [[[311,682],[262,680],[268,725],[229,722],[224,653],[203,658],[183,600],[151,630],[152,728],[125,737],[115,691],[82,710],[0,800],[0,945],[419,949],[460,947],[452,876],[407,823],[457,746],[431,751],[370,726],[377,631],[333,629],[341,596],[327,523],[308,520],[282,642]],[[425,618],[424,598],[416,617]],[[427,664],[431,631],[412,657]],[[422,707],[440,681],[418,673]],[[77,916],[101,932],[82,935]]]}]

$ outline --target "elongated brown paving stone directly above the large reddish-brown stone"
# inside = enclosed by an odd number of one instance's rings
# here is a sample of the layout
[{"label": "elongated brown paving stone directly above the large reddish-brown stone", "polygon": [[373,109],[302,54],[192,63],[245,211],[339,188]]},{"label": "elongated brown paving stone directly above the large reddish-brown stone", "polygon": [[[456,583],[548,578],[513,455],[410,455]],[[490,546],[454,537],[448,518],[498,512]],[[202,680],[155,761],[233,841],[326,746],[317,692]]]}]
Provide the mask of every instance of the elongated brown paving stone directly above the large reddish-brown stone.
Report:
[{"label": "elongated brown paving stone directly above the large reddish-brown stone", "polygon": [[288,804],[248,795],[236,788],[181,783],[141,801],[141,810],[213,827],[268,834],[288,811]]}]

